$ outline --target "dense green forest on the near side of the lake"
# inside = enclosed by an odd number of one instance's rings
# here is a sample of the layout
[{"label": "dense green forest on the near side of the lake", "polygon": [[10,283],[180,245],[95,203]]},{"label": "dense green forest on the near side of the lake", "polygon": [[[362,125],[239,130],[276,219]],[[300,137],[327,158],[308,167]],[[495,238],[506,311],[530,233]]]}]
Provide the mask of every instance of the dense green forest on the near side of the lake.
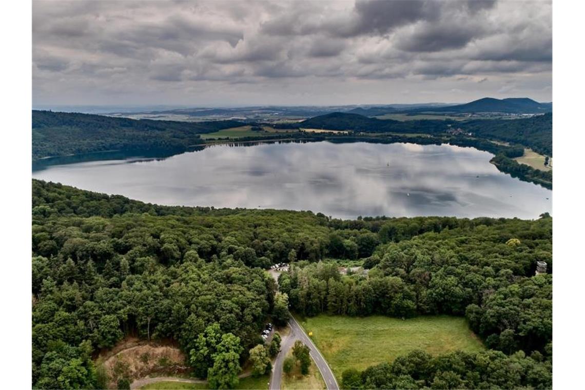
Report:
[{"label": "dense green forest on the near side of the lake", "polygon": [[[552,271],[546,215],[339,220],[312,212],[157,206],[32,185],[36,388],[101,386],[92,357],[126,334],[176,340],[194,374],[219,380],[214,370],[221,362],[239,367],[261,343],[266,320],[283,310],[262,269],[281,261],[294,263],[290,276],[281,277],[281,291],[305,315],[466,315],[486,344],[505,355],[462,357],[464,367],[456,368],[462,380],[473,379],[462,374],[470,361],[505,364],[519,359],[507,357],[518,350],[549,359],[552,275],[532,276],[536,260]],[[329,258],[362,259],[369,275],[340,275]],[[210,351],[223,351],[221,359]],[[528,359],[518,364],[533,364]],[[536,366],[550,375],[545,363]],[[432,367],[425,383],[458,380],[438,363]],[[404,370],[401,380],[419,380]],[[369,375],[360,374],[366,388]],[[395,371],[388,375],[395,380]],[[501,383],[490,378],[482,381]]]}]

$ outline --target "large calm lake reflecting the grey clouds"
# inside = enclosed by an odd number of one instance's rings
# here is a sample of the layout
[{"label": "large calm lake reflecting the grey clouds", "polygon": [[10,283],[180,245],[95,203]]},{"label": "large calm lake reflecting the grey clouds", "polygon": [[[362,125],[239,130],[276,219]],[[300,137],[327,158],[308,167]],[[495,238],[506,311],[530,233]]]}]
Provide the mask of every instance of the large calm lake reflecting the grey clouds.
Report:
[{"label": "large calm lake reflecting the grey clouds", "polygon": [[160,205],[312,210],[335,218],[552,214],[552,191],[498,171],[491,157],[450,145],[218,145],[159,160],[53,165],[33,178]]}]

